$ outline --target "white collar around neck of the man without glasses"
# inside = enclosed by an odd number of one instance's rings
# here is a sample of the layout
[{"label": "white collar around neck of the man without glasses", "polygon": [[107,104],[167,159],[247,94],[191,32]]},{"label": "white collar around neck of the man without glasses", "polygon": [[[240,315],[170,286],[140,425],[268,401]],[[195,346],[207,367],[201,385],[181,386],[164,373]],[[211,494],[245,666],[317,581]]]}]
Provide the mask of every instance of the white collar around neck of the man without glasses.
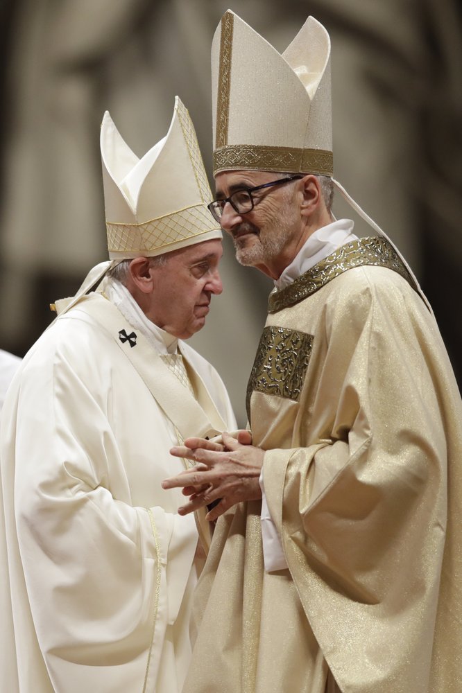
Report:
[{"label": "white collar around neck of the man without glasses", "polygon": [[130,291],[120,281],[105,277],[101,284],[101,292],[119,308],[123,317],[146,337],[156,351],[164,354],[176,353],[178,337],[173,337],[146,317]]}]

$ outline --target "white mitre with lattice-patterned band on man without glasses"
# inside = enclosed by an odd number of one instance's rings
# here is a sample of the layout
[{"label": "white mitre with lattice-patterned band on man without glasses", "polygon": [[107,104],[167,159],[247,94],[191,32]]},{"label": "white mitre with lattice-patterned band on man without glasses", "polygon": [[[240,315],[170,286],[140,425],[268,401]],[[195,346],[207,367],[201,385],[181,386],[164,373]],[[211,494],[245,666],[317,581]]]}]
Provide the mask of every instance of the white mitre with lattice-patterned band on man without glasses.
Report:
[{"label": "white mitre with lattice-patterned band on man without glasses", "polygon": [[212,193],[194,125],[178,96],[169,132],[141,159],[106,111],[101,158],[111,260],[155,256],[221,238],[207,209]]}]

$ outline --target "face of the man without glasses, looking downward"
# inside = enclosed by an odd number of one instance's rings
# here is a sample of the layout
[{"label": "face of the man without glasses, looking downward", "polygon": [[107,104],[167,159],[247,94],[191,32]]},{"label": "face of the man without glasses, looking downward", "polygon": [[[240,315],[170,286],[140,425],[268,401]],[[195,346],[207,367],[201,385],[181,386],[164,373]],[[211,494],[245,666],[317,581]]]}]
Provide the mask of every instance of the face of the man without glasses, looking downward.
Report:
[{"label": "face of the man without glasses, looking downward", "polygon": [[156,325],[180,339],[203,328],[212,294],[221,294],[221,240],[206,240],[166,255],[151,267],[154,290],[146,313]]}]

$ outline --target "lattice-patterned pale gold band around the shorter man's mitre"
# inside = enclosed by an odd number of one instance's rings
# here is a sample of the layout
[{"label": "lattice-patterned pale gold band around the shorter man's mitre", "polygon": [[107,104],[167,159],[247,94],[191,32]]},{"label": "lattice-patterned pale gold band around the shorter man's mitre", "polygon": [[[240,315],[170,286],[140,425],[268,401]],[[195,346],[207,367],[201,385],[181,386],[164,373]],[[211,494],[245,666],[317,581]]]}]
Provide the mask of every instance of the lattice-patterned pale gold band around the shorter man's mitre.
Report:
[{"label": "lattice-patterned pale gold band around the shorter man's mitre", "polygon": [[110,252],[148,252],[217,228],[205,204],[180,209],[142,224],[106,224]]}]

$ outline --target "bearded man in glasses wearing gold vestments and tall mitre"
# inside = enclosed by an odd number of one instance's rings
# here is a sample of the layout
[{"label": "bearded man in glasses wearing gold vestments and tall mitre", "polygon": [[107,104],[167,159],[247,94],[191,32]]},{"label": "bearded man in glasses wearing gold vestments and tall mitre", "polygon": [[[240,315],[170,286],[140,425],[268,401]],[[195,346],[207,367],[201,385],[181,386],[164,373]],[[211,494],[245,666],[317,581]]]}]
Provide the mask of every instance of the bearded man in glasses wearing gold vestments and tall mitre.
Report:
[{"label": "bearded man in glasses wearing gold vestments and tall mitre", "polygon": [[209,210],[275,290],[253,445],[187,440],[198,468],[164,482],[184,514],[221,499],[185,693],[459,693],[462,403],[417,280],[332,178],[327,31],[280,55],[226,12],[212,103]]}]

